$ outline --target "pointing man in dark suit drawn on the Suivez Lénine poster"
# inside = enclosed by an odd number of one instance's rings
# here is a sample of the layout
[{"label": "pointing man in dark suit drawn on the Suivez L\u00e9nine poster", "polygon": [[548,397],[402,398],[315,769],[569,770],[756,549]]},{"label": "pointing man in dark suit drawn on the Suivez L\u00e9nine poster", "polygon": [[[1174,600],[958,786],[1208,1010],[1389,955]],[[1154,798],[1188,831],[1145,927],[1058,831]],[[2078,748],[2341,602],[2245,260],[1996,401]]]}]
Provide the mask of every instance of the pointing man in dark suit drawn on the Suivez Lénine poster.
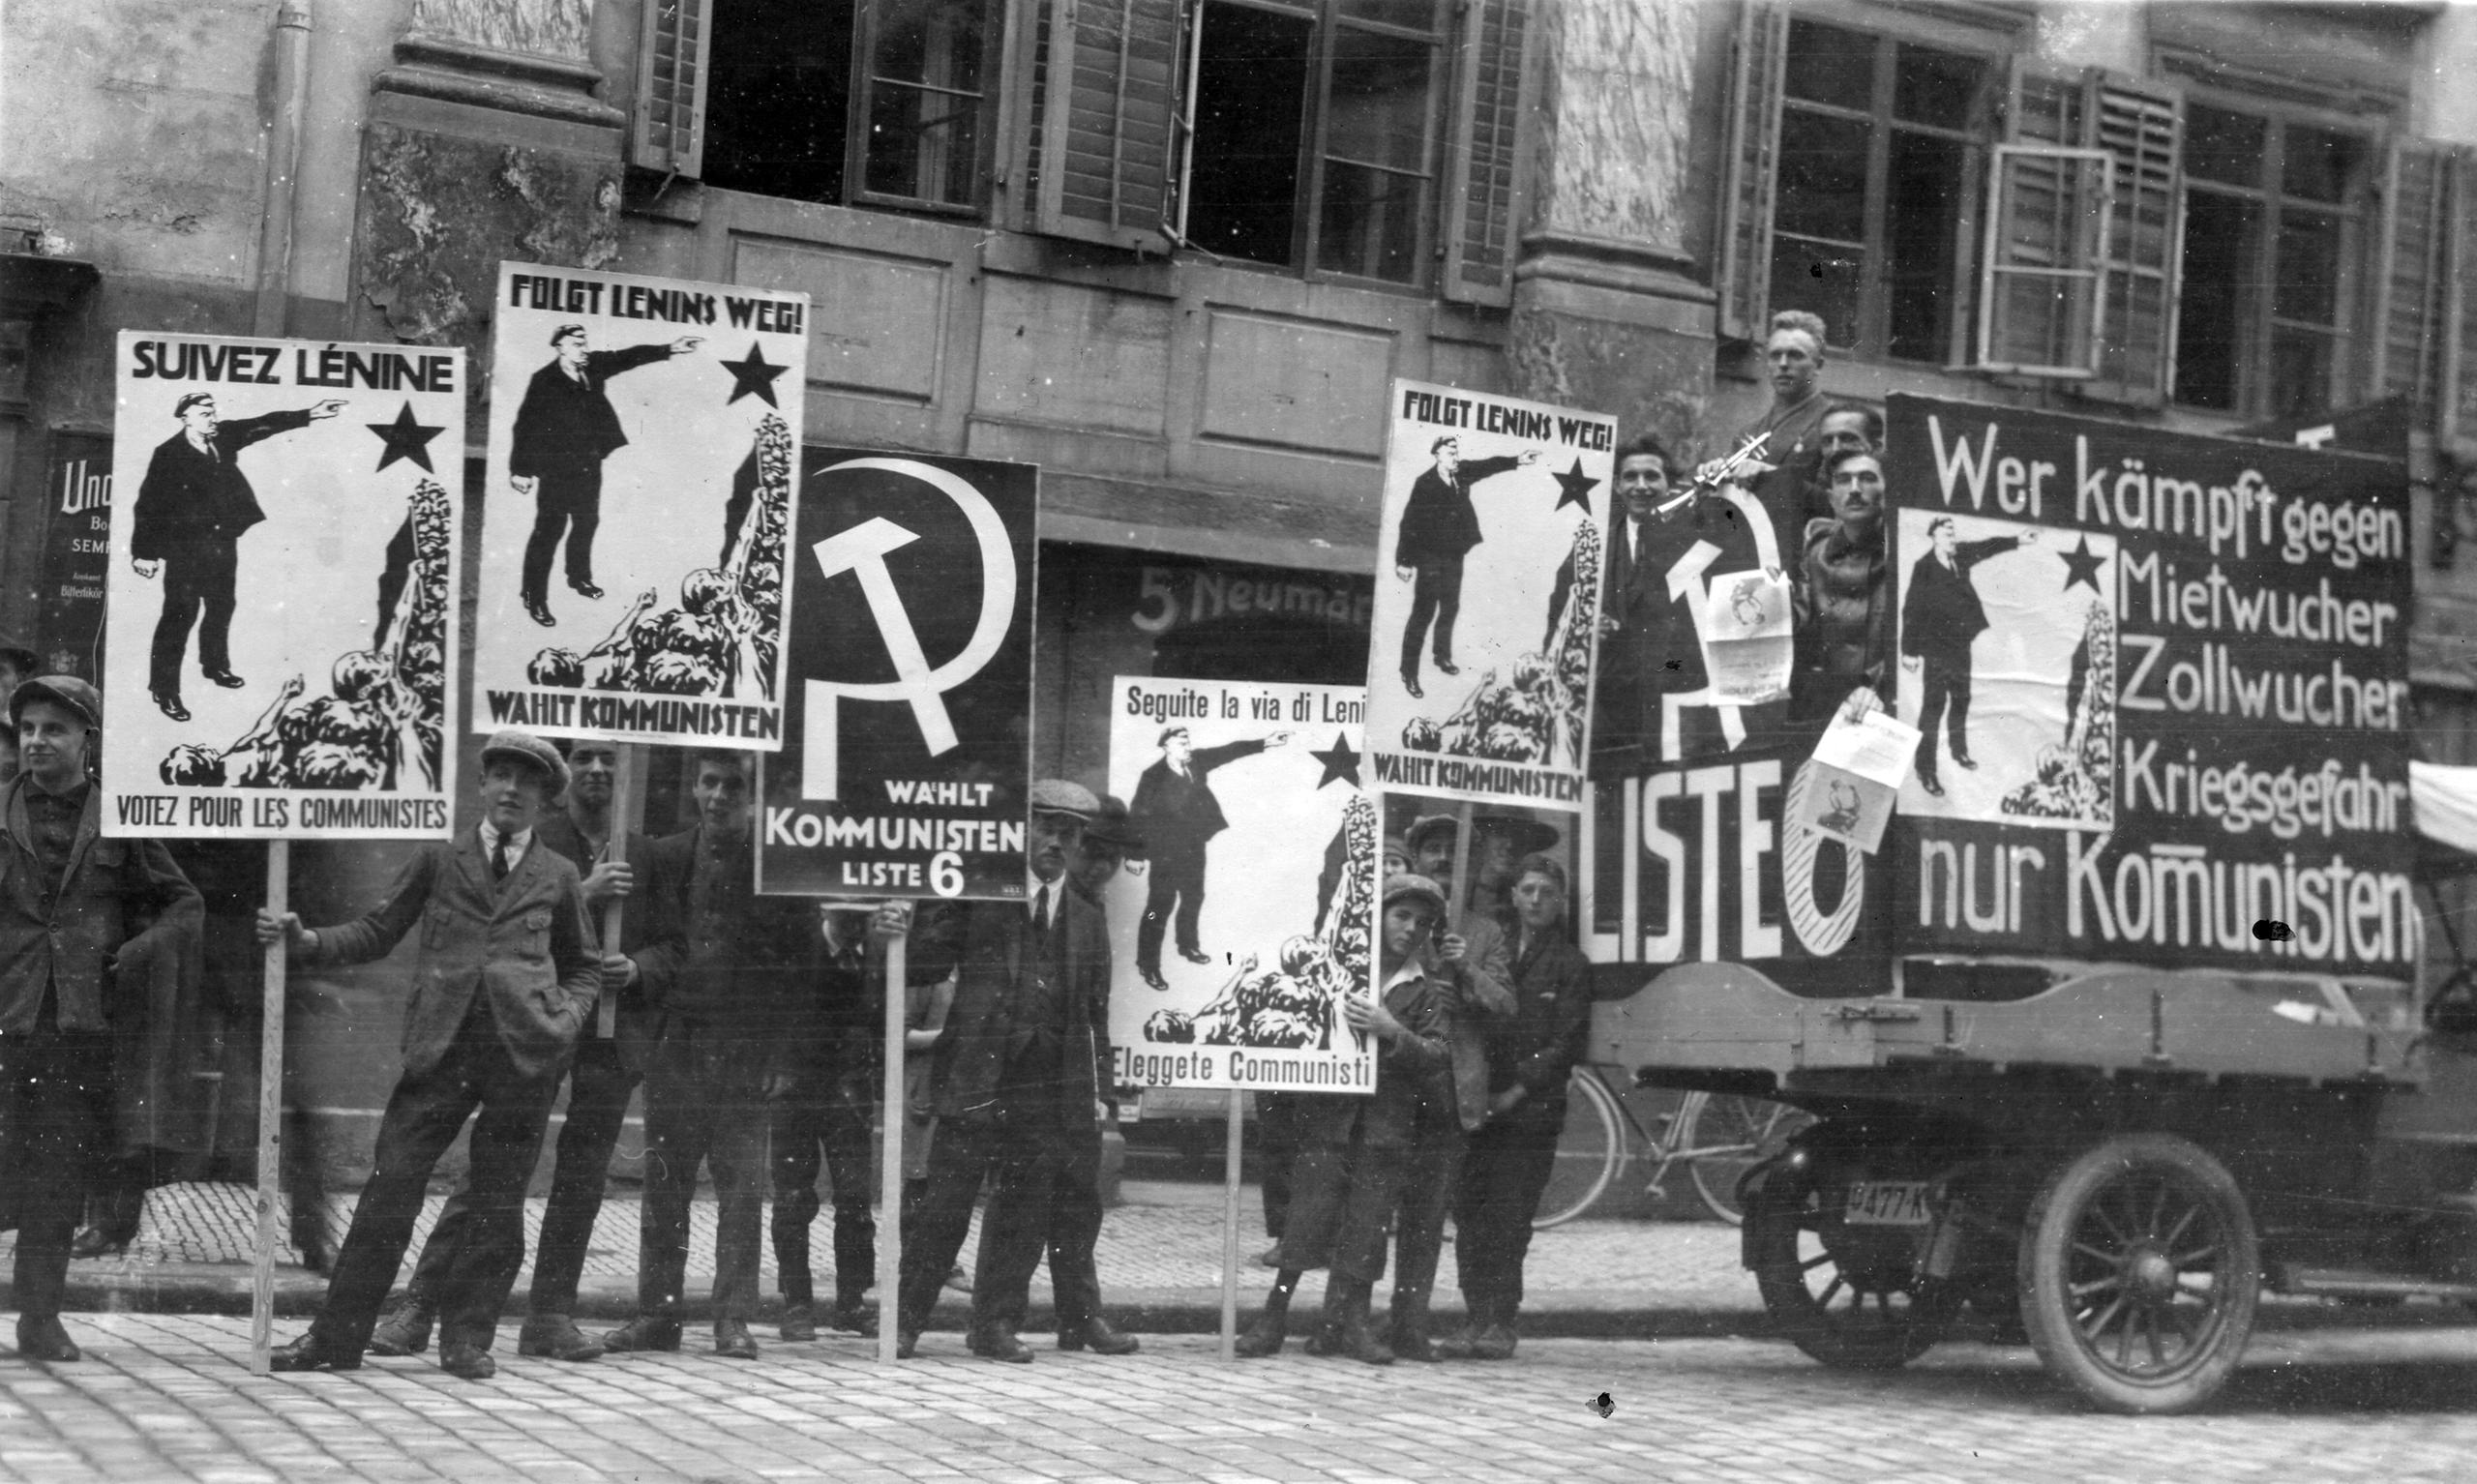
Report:
[{"label": "pointing man in dark suit drawn on the Suivez L\u00e9nine poster", "polygon": [[[156,443],[131,510],[129,565],[139,577],[163,572],[163,612],[156,617],[146,689],[173,721],[188,721],[181,704],[181,657],[198,629],[198,669],[223,689],[245,681],[233,674],[233,580],[240,572],[240,533],[268,518],[258,508],[240,451],[275,434],[307,429],[344,411],[339,399],[305,411],[270,411],[223,421],[215,399],[191,391],[173,404],[181,431]],[[203,614],[203,617],[201,617]]]}]

